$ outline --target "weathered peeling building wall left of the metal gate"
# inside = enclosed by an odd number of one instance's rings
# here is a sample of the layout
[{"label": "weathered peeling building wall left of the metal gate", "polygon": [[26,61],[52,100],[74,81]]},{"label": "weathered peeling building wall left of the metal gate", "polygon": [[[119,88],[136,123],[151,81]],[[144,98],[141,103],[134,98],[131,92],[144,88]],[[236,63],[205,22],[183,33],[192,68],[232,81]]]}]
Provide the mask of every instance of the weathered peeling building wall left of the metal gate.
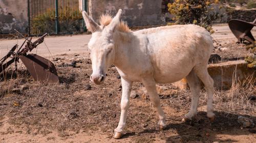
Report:
[{"label": "weathered peeling building wall left of the metal gate", "polygon": [[28,31],[28,3],[27,0],[0,1],[0,34]]}]

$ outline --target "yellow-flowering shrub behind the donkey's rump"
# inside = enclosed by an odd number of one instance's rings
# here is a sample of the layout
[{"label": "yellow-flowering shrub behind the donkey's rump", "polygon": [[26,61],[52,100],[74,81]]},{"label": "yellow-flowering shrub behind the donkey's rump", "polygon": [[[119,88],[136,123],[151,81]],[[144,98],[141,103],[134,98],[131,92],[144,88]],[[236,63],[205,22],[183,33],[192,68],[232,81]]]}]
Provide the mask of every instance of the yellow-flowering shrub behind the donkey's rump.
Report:
[{"label": "yellow-flowering shrub behind the donkey's rump", "polygon": [[197,24],[210,33],[214,33],[211,24],[218,19],[219,13],[211,12],[209,8],[212,4],[217,4],[218,0],[175,0],[168,4],[168,11],[175,15],[175,24]]}]

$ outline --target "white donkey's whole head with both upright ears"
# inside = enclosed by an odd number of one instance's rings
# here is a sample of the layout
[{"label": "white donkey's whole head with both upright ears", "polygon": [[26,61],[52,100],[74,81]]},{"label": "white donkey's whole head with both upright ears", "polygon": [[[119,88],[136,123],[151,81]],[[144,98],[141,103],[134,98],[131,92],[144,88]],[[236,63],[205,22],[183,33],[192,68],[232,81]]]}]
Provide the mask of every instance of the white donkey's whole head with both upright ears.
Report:
[{"label": "white donkey's whole head with both upright ears", "polygon": [[88,14],[83,11],[83,19],[90,32],[92,38],[88,43],[91,51],[91,61],[93,73],[91,81],[95,84],[101,84],[106,77],[106,70],[110,67],[115,59],[114,31],[120,23],[120,15],[122,10],[119,9],[111,23],[105,27],[99,26]]}]

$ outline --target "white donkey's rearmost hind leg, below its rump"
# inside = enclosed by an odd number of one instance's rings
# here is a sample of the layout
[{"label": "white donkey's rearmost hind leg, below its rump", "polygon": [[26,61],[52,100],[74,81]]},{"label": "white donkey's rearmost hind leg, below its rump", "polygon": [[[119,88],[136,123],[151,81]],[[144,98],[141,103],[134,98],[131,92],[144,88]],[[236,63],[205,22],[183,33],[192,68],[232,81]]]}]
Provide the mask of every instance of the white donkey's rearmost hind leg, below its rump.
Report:
[{"label": "white donkey's rearmost hind leg, below its rump", "polygon": [[214,80],[210,77],[207,65],[205,66],[198,66],[195,68],[195,72],[197,76],[201,79],[204,83],[204,87],[207,92],[208,100],[207,100],[207,117],[210,121],[214,121],[215,114],[214,114],[214,106],[212,105],[213,99],[212,96],[214,94]]}]

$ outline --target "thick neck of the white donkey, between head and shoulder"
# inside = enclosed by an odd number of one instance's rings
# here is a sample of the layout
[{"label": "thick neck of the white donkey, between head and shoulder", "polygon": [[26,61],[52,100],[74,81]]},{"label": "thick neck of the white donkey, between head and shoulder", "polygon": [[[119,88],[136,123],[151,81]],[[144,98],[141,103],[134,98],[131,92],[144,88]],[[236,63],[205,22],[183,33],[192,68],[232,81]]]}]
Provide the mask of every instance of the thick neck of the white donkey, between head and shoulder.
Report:
[{"label": "thick neck of the white donkey, between head and shoulder", "polygon": [[114,65],[123,73],[134,73],[148,64],[147,40],[142,34],[121,33],[115,35]]}]

